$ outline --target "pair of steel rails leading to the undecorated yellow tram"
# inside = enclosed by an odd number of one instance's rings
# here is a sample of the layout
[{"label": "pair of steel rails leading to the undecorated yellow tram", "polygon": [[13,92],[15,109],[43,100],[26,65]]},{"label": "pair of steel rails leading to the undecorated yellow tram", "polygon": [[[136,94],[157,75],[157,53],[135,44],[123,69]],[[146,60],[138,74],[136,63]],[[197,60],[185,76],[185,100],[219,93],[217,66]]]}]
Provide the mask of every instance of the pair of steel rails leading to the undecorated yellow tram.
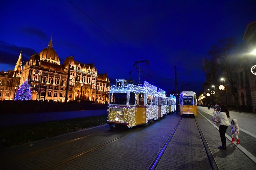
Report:
[{"label": "pair of steel rails leading to the undecorated yellow tram", "polygon": [[[168,151],[168,146],[170,145],[170,142],[172,140],[172,138],[175,136],[176,130],[179,127],[181,121],[182,121],[183,117],[179,120],[179,122],[177,123],[177,125],[173,128],[171,134],[169,135],[169,137],[167,138],[166,142],[164,143],[163,147],[161,148],[161,150],[159,151],[159,153],[157,154],[157,156],[155,157],[154,161],[151,163],[151,165],[149,166],[148,170],[155,170],[155,169],[159,169],[166,152]],[[207,165],[209,167],[209,169],[212,170],[219,170],[218,164],[213,156],[213,153],[210,150],[210,147],[204,137],[204,134],[197,122],[196,117],[194,117],[199,135],[200,135],[200,139],[201,139],[201,143],[203,146],[203,151],[204,151],[204,155],[205,155],[205,159],[207,162]]]}]

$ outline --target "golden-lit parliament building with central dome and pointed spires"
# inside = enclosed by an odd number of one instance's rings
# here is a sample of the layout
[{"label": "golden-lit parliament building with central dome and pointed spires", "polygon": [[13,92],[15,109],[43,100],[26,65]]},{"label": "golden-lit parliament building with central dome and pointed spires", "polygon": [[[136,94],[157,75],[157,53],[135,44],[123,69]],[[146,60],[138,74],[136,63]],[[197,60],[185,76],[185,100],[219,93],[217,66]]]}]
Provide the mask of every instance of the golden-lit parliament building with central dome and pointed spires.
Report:
[{"label": "golden-lit parliament building with central dome and pointed spires", "polygon": [[0,72],[0,100],[13,100],[16,89],[26,80],[31,87],[31,100],[108,102],[107,74],[98,74],[94,63],[79,63],[73,56],[66,57],[60,65],[52,37],[48,47],[33,54],[24,66],[20,52],[14,71]]}]

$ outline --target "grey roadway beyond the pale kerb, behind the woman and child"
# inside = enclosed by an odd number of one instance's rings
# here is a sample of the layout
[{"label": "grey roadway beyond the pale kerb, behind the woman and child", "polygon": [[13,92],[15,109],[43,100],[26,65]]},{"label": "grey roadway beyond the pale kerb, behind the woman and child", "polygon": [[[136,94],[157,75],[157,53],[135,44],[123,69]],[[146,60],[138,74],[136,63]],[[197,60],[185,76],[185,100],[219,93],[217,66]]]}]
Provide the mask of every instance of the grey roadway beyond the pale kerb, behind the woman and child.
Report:
[{"label": "grey roadway beyond the pale kerb, behind the woman and child", "polygon": [[[198,107],[198,111],[209,120],[213,117],[213,109],[208,110],[206,107]],[[240,145],[256,157],[256,114],[230,111],[230,123],[232,119],[237,119],[239,128],[242,128],[238,135]],[[231,128],[228,127],[226,134],[230,136],[230,132]]]}]

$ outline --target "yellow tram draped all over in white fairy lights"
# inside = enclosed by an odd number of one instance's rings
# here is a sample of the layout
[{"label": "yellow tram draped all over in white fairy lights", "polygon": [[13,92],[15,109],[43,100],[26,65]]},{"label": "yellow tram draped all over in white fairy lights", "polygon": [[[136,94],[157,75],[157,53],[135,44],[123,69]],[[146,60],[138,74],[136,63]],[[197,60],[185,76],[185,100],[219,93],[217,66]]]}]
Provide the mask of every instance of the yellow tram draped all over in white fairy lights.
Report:
[{"label": "yellow tram draped all over in white fairy lights", "polygon": [[108,121],[111,127],[134,127],[151,123],[169,113],[165,91],[144,82],[129,83],[118,79],[109,90]]}]

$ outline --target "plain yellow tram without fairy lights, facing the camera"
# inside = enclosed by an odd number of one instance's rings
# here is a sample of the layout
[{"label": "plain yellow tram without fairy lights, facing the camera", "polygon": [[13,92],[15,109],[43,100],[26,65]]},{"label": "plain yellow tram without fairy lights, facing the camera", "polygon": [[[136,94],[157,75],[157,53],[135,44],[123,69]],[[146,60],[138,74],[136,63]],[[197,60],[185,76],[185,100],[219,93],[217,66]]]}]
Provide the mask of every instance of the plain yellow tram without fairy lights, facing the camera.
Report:
[{"label": "plain yellow tram without fairy lights, facing the camera", "polygon": [[180,93],[180,114],[187,116],[197,115],[196,93],[193,91],[183,91]]}]

